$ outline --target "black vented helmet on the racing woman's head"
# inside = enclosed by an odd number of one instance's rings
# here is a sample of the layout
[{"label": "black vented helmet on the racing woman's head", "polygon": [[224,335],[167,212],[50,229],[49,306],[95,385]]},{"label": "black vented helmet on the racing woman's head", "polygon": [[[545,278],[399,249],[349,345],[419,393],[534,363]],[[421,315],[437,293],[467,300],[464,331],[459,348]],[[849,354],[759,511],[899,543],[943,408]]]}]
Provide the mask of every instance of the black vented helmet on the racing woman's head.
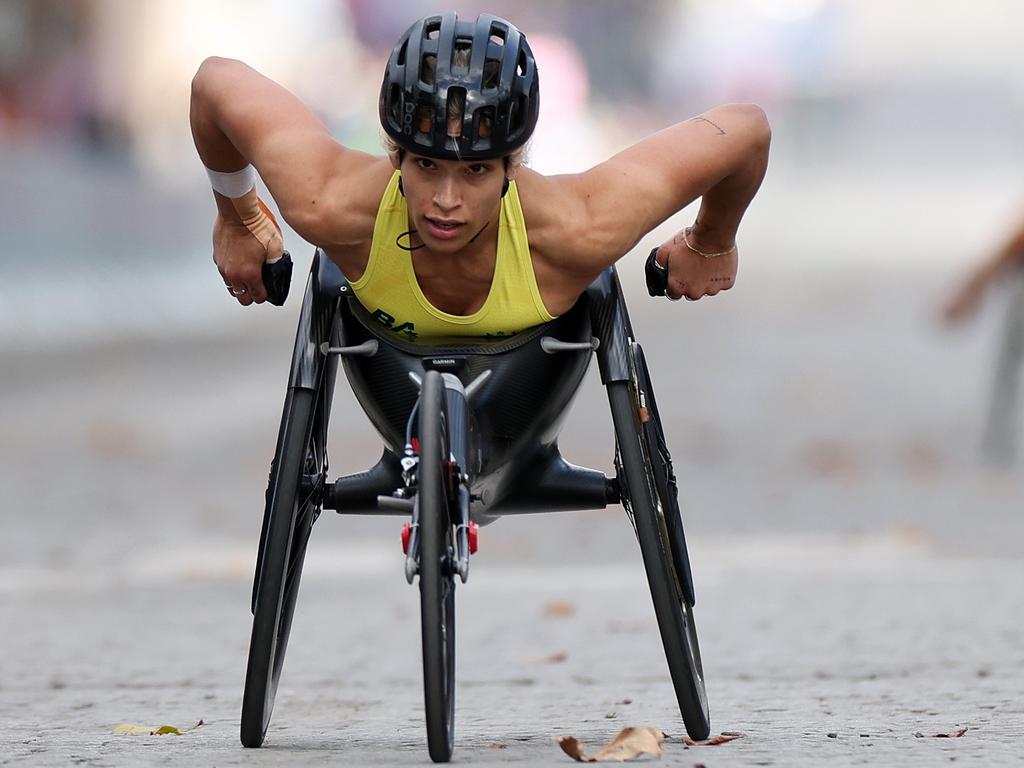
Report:
[{"label": "black vented helmet on the racing woman's head", "polygon": [[[381,85],[384,131],[403,150],[440,160],[509,155],[534,133],[537,62],[526,36],[487,13],[420,19],[391,52]],[[449,125],[461,123],[461,135]],[[454,131],[453,131],[454,132]]]}]

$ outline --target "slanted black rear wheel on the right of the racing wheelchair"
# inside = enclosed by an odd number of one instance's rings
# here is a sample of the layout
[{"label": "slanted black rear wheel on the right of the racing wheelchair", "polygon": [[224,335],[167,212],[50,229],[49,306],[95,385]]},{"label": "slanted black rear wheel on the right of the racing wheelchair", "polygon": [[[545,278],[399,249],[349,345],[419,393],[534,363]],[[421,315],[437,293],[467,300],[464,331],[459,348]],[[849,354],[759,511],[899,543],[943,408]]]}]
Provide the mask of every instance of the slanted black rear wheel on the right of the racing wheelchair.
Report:
[{"label": "slanted black rear wheel on the right of the racing wheelchair", "polygon": [[[636,526],[679,711],[690,737],[707,738],[711,733],[711,718],[700,646],[693,607],[686,599],[684,575],[677,567],[677,557],[672,551],[666,514],[667,509],[678,508],[675,500],[672,504],[663,502],[658,493],[657,486],[662,483],[657,481],[651,460],[649,432],[644,429],[638,396],[631,383],[621,381],[608,384],[608,400],[615,428],[615,468],[623,506]],[[650,410],[647,416],[652,416]],[[653,417],[656,419],[656,414]],[[659,424],[657,428],[660,429]]]}]

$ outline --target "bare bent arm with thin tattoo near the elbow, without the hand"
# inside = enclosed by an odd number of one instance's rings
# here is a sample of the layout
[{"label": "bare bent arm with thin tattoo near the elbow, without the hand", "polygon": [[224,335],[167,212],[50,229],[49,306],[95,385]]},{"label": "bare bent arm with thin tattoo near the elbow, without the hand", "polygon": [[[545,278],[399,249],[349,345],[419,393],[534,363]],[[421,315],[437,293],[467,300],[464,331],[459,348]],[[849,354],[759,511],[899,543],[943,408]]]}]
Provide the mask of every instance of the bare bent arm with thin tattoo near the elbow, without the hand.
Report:
[{"label": "bare bent arm with thin tattoo near the elbow, without the hand", "polygon": [[691,234],[731,247],[768,166],[771,130],[760,108],[727,104],[678,123],[575,176],[556,177],[575,244],[563,266],[596,273],[674,213],[701,198]]}]

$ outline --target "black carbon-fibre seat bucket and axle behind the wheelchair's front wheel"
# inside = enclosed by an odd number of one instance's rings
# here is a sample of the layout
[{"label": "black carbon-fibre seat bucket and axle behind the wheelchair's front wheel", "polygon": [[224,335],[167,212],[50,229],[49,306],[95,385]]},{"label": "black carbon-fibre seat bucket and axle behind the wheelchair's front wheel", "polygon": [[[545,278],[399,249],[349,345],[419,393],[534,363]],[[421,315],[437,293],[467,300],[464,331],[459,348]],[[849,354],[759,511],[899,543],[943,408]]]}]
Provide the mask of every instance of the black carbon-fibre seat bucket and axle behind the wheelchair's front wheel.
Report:
[{"label": "black carbon-fibre seat bucket and axle behind the wheelchair's front wheel", "polygon": [[[397,486],[395,457],[401,455],[409,416],[419,396],[410,374],[422,378],[430,369],[455,374],[467,387],[487,377],[472,398],[478,461],[472,468],[475,519],[486,522],[492,513],[606,506],[609,492],[603,473],[569,464],[557,445],[592,357],[586,295],[560,317],[512,336],[410,339],[375,319],[326,256],[321,256],[318,272],[322,295],[342,297],[337,343],[353,347],[371,339],[379,342],[374,354],[346,355],[343,366],[386,446],[376,467],[341,478],[326,506],[355,511],[351,507],[369,502],[377,483],[390,484],[380,493]],[[580,348],[546,351],[552,349],[551,340]]]}]

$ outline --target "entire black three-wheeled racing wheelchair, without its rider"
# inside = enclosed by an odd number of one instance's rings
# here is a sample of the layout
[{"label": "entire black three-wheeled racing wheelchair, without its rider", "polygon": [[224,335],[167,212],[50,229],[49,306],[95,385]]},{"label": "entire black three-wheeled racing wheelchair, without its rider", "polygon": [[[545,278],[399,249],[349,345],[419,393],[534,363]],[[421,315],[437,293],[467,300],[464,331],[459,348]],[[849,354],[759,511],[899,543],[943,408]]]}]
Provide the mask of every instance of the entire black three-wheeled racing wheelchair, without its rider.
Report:
[{"label": "entire black three-wheeled racing wheelchair, without its rider", "polygon": [[[649,287],[650,280],[648,268]],[[569,464],[558,450],[559,428],[595,354],[611,408],[614,477]],[[331,481],[327,433],[339,361],[384,452],[372,468]],[[266,734],[306,545],[322,510],[406,518],[406,578],[418,581],[420,593],[427,748],[434,762],[447,762],[455,736],[456,585],[469,575],[477,525],[503,514],[616,503],[640,545],[686,730],[707,738],[676,478],[614,267],[572,309],[543,326],[509,337],[421,340],[372,316],[317,250],[266,490],[242,743],[259,746]]]}]

